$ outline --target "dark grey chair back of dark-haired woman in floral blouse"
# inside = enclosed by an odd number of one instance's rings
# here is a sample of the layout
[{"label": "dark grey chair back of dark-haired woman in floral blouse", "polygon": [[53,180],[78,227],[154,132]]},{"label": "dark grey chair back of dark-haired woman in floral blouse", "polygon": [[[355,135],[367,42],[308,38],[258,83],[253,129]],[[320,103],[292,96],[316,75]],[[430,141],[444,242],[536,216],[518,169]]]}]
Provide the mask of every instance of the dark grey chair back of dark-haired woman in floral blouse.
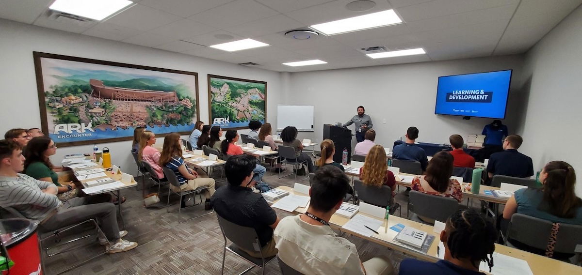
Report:
[{"label": "dark grey chair back of dark-haired woman in floral blouse", "polygon": [[[434,224],[435,220],[444,223],[450,215],[459,209],[459,206],[456,199],[413,190],[409,194],[406,216],[409,217],[409,220],[424,224]],[[416,215],[410,217],[410,212]]]}]

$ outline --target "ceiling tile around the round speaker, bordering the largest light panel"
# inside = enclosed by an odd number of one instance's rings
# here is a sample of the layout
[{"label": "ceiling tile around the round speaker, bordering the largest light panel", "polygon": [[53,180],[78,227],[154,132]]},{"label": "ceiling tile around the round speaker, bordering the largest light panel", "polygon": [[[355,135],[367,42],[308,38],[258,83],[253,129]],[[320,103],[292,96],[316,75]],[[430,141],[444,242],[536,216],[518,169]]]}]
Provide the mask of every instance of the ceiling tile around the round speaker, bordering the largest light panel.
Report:
[{"label": "ceiling tile around the round speaker, bordering the largest light panel", "polygon": [[311,26],[313,24],[380,12],[382,10],[392,8],[392,6],[387,1],[375,1],[376,5],[370,10],[365,12],[352,12],[351,10],[346,9],[346,4],[353,1],[354,0],[332,1],[321,5],[312,6],[310,8],[295,10],[285,14],[292,19],[305,24],[305,26]]}]

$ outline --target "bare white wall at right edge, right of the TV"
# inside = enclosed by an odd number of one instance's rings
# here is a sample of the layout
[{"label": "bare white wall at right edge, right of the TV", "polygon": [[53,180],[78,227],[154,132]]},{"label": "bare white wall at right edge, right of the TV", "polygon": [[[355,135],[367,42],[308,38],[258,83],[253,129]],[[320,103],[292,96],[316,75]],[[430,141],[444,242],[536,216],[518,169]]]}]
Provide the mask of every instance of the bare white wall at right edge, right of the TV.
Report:
[{"label": "bare white wall at right edge, right of the TV", "polygon": [[[582,6],[575,9],[526,55],[523,77],[530,97],[520,151],[542,169],[563,160],[582,178]],[[582,197],[582,183],[576,186]]]}]

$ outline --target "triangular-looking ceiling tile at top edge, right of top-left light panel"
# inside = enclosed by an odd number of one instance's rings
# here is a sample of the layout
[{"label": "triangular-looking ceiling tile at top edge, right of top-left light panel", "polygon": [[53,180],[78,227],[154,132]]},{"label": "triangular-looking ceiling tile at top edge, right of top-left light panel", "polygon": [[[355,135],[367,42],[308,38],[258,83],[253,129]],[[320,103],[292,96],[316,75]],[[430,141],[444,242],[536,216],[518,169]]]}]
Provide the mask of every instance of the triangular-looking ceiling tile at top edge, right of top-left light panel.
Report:
[{"label": "triangular-looking ceiling tile at top edge, right of top-left light panel", "polygon": [[232,1],[233,0],[141,0],[140,4],[185,18]]}]

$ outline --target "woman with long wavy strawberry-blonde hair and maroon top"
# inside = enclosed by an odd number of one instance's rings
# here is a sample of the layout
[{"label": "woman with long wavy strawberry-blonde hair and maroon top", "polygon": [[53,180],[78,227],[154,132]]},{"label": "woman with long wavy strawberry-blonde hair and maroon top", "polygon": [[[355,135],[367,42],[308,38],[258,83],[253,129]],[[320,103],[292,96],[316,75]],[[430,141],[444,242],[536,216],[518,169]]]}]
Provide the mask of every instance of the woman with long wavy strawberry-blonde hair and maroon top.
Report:
[{"label": "woman with long wavy strawberry-blonde hair and maroon top", "polygon": [[394,196],[396,178],[394,173],[388,170],[386,151],[381,145],[374,145],[368,155],[365,156],[364,166],[360,169],[360,180],[365,185],[378,188],[382,187],[382,185],[388,185],[392,189],[392,196]]}]

